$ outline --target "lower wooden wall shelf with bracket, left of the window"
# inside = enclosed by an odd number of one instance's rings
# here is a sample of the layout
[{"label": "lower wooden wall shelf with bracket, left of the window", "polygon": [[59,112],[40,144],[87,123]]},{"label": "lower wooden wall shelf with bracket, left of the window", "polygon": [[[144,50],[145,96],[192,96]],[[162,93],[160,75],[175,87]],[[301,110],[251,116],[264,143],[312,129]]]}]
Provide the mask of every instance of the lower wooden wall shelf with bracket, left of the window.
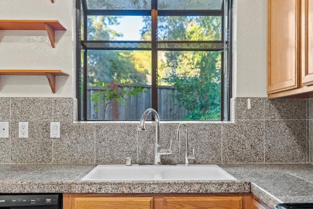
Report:
[{"label": "lower wooden wall shelf with bracket, left of the window", "polygon": [[45,75],[49,81],[52,93],[55,93],[55,76],[68,76],[68,73],[62,70],[0,70],[0,75]]}]

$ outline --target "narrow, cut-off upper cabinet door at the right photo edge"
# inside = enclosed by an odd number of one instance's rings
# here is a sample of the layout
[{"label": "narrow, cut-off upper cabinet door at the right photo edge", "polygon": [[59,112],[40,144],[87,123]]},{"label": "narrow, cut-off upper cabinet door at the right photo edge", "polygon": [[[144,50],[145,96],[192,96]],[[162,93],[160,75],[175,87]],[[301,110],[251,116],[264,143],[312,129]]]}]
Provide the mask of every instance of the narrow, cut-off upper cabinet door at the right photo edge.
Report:
[{"label": "narrow, cut-off upper cabinet door at the right photo edge", "polygon": [[313,84],[313,0],[301,0],[302,85]]}]

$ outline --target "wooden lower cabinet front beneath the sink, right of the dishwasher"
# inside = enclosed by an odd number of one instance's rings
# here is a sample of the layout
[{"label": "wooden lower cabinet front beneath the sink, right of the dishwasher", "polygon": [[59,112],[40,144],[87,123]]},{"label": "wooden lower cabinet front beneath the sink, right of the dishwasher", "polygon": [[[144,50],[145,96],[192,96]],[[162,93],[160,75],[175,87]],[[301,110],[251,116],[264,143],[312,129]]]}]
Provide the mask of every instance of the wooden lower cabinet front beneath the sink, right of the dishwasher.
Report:
[{"label": "wooden lower cabinet front beneath the sink, right of the dishwasher", "polygon": [[63,209],[252,209],[251,193],[63,194]]}]

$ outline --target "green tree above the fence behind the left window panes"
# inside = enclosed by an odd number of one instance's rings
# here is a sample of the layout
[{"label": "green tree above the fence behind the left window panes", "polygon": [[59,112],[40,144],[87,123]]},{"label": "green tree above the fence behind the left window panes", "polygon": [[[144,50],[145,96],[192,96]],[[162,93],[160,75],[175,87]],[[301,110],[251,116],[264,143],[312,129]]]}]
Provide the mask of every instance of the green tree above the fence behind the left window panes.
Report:
[{"label": "green tree above the fence behind the left window panes", "polygon": [[[111,29],[116,16],[88,16],[88,40],[114,40],[123,34]],[[146,71],[137,70],[132,51],[88,50],[88,84],[96,82],[130,82],[146,84]]]}]

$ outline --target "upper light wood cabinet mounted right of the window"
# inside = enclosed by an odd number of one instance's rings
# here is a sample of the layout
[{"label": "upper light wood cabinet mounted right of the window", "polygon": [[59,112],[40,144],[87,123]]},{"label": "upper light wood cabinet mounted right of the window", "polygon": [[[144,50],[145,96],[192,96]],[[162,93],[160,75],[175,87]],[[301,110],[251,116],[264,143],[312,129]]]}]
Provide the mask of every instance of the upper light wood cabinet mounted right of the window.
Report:
[{"label": "upper light wood cabinet mounted right of the window", "polygon": [[313,96],[313,0],[268,0],[268,98]]}]

